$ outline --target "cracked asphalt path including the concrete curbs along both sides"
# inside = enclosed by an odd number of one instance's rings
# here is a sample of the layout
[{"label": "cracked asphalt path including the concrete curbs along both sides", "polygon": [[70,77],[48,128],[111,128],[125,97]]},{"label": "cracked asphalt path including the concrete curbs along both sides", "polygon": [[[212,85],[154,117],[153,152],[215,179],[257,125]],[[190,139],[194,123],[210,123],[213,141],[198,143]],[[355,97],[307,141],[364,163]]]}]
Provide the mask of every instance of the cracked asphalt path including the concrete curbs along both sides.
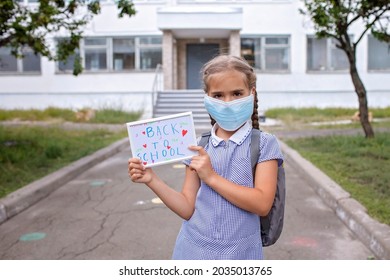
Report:
[{"label": "cracked asphalt path including the concrete curbs along both sides", "polygon": [[[285,227],[278,243],[265,248],[266,257],[390,259],[390,227],[281,145]],[[129,156],[126,138],[1,199],[0,259],[169,259],[181,219],[128,179]],[[156,172],[180,188],[182,167],[165,165]]]}]

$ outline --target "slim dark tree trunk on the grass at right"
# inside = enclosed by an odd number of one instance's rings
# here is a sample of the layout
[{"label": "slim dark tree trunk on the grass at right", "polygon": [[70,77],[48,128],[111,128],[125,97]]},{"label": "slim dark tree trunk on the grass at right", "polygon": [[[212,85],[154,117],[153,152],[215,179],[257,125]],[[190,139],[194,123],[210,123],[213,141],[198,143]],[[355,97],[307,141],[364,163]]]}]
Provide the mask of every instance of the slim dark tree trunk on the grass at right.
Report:
[{"label": "slim dark tree trunk on the grass at right", "polygon": [[364,87],[362,80],[360,79],[359,73],[356,68],[356,59],[355,52],[347,52],[349,64],[350,64],[350,74],[352,78],[352,83],[355,87],[355,92],[359,100],[359,116],[360,123],[366,135],[366,138],[374,137],[374,130],[372,129],[371,123],[368,118],[368,103],[367,103],[367,91]]}]

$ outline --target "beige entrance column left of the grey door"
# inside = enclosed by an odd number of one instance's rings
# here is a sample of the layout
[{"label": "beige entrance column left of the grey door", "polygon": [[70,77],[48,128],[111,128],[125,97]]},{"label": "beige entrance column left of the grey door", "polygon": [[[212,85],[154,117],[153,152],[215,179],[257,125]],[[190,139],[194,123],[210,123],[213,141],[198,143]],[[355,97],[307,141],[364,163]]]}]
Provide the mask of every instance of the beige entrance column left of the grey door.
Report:
[{"label": "beige entrance column left of the grey door", "polygon": [[173,34],[171,30],[163,31],[162,56],[164,89],[173,89]]}]

